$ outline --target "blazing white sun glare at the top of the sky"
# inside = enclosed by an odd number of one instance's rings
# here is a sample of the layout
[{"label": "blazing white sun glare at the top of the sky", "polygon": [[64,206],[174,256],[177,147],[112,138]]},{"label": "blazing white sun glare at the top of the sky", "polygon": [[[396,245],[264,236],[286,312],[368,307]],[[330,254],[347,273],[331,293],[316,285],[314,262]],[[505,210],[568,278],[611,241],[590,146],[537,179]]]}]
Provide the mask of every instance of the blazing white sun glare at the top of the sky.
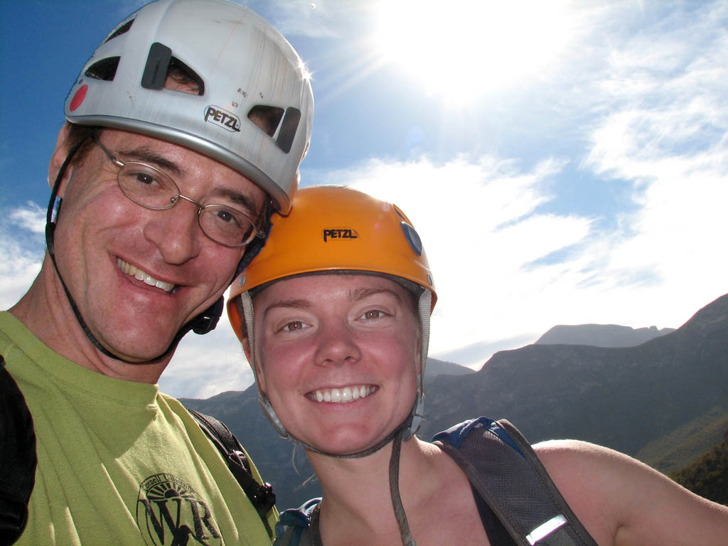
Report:
[{"label": "blazing white sun glare at the top of the sky", "polygon": [[373,48],[424,92],[468,106],[553,67],[570,26],[561,0],[381,0]]}]

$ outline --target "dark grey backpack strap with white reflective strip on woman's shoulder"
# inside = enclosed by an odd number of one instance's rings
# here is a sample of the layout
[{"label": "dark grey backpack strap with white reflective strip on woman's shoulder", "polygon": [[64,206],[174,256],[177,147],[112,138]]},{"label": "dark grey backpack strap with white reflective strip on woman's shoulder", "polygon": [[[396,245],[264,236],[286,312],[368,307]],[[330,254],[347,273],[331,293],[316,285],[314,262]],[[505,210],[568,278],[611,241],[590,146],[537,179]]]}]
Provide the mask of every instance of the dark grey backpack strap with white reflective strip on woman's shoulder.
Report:
[{"label": "dark grey backpack strap with white reflective strip on woman's shoulder", "polygon": [[519,546],[596,546],[510,422],[480,417],[433,441],[459,464]]}]

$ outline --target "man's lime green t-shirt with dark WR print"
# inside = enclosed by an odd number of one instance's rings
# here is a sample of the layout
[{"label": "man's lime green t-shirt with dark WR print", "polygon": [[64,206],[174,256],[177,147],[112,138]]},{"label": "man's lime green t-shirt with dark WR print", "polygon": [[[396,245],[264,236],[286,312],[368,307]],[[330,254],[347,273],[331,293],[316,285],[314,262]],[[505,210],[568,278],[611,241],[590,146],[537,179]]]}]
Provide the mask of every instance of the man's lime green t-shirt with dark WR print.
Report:
[{"label": "man's lime green t-shirt with dark WR print", "polygon": [[0,355],[33,416],[38,454],[18,546],[270,545],[218,451],[157,385],[82,368],[9,312]]}]

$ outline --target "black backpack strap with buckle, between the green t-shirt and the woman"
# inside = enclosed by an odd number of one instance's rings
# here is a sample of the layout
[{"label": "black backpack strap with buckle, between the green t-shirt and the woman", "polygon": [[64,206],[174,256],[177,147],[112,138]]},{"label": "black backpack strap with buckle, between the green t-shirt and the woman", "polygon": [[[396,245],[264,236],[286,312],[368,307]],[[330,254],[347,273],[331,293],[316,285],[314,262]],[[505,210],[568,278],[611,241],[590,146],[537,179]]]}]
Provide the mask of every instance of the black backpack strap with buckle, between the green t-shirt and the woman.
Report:
[{"label": "black backpack strap with buckle, between the green t-shirt and the woman", "polygon": [[268,531],[269,536],[273,537],[273,531],[268,524],[267,518],[269,511],[275,505],[275,494],[272,486],[269,483],[258,483],[253,478],[253,474],[250,472],[248,457],[245,456],[240,442],[230,432],[226,424],[212,416],[201,414],[199,411],[187,408],[186,406],[185,409],[194,417],[199,427],[207,435],[207,438],[210,438],[215,447],[218,448],[230,472],[235,476],[235,479],[240,483],[240,487],[245,491],[253,507],[258,511],[258,515],[266,526],[266,531]]}]

